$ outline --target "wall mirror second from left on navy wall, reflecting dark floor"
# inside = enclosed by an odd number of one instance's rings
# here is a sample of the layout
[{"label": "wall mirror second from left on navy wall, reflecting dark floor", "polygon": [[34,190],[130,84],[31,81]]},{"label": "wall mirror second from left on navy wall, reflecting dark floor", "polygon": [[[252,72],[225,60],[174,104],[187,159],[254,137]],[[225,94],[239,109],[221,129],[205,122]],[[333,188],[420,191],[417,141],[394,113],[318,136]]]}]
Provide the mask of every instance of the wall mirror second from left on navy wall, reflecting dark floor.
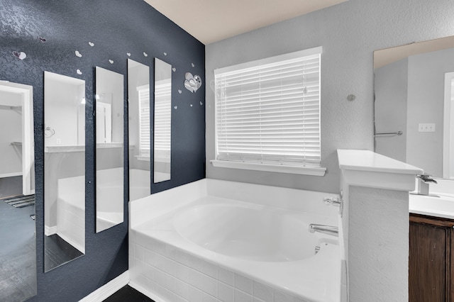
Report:
[{"label": "wall mirror second from left on navy wall, reflecting dark floor", "polygon": [[44,73],[44,271],[85,253],[85,81]]}]

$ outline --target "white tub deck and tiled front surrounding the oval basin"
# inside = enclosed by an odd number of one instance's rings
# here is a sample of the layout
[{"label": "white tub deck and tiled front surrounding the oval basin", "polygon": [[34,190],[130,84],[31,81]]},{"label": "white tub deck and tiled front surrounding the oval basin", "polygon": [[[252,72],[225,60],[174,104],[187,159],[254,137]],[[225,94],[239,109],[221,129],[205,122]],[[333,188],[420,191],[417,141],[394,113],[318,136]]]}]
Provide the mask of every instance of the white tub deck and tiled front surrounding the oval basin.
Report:
[{"label": "white tub deck and tiled front surrounding the oval basin", "polygon": [[[323,203],[323,197],[336,194],[202,179],[129,203],[131,286],[155,301],[338,301],[341,285],[338,245],[326,244],[309,261],[257,262],[257,265],[254,261],[239,260],[238,269],[231,264],[232,257],[199,246],[196,248],[194,243],[181,240],[175,231],[167,230],[168,223],[162,221],[167,221],[168,213],[207,194],[314,213],[319,220],[309,223],[338,224],[338,208]],[[155,222],[150,223],[153,219]],[[185,243],[178,243],[181,241]],[[188,243],[194,249],[187,250]],[[295,263],[299,262],[311,269],[311,276],[302,279],[298,276],[301,267],[296,267]],[[324,267],[317,271],[317,265]],[[275,276],[267,276],[270,272]],[[277,279],[285,276],[291,276],[286,285],[272,285],[279,284]],[[330,280],[323,280],[326,278]],[[336,280],[338,283],[333,284]],[[308,293],[310,298],[300,296],[297,291],[301,289],[311,291]],[[323,292],[328,294],[323,296]]]}]

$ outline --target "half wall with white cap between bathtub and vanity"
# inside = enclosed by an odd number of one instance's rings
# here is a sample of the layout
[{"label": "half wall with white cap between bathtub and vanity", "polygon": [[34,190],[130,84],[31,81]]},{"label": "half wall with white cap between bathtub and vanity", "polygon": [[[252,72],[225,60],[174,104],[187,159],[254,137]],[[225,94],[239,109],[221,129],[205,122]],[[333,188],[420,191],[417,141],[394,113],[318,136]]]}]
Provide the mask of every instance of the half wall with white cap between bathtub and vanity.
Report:
[{"label": "half wall with white cap between bathtub and vanity", "polygon": [[343,189],[341,301],[408,301],[409,191],[422,169],[338,150]]}]

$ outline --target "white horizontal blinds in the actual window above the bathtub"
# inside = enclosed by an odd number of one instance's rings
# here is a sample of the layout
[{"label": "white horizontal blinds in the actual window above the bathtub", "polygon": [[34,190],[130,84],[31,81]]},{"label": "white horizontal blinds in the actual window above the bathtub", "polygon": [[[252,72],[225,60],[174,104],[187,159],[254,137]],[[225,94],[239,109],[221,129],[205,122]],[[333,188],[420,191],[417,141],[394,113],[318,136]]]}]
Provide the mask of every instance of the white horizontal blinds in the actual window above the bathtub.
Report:
[{"label": "white horizontal blinds in the actual window above the bathtub", "polygon": [[321,47],[215,70],[217,160],[320,167]]}]

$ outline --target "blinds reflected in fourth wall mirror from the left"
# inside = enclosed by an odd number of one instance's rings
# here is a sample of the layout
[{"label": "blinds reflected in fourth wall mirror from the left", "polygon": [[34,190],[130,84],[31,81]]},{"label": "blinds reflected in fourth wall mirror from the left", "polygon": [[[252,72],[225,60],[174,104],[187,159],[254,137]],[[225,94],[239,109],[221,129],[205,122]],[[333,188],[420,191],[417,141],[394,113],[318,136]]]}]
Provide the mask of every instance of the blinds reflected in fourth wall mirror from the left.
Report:
[{"label": "blinds reflected in fourth wall mirror from the left", "polygon": [[139,96],[139,155],[150,157],[150,86],[137,87]]}]

